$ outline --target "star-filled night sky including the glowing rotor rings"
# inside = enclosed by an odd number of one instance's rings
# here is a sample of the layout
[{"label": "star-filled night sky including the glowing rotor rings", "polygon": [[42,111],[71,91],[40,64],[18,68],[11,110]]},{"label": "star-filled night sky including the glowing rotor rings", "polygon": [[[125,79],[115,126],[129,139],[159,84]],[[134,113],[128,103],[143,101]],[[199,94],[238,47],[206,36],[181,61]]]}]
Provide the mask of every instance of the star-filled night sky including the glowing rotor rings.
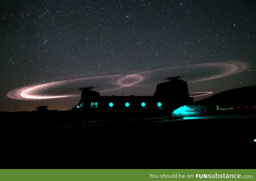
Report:
[{"label": "star-filled night sky including the glowing rotor rings", "polygon": [[1,0],[0,15],[0,111],[68,110],[87,86],[153,95],[174,76],[212,92],[194,100],[256,84],[255,0]]}]

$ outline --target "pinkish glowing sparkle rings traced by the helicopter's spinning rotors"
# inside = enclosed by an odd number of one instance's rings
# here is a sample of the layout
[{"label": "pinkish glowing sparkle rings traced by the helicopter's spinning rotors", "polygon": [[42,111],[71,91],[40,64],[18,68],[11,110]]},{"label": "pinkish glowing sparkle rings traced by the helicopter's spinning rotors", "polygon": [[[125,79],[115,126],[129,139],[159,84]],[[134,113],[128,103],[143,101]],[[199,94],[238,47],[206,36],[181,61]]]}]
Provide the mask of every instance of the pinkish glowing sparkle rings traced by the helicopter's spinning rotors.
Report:
[{"label": "pinkish glowing sparkle rings traced by the helicopter's spinning rotors", "polygon": [[[201,78],[193,78],[193,82],[200,82],[200,81],[208,81],[212,79],[220,79],[223,77],[227,77],[230,75],[234,75],[237,73],[241,73],[248,69],[250,65],[248,63],[243,62],[232,62],[232,63],[204,63],[204,64],[195,64],[195,65],[184,65],[184,66],[176,66],[176,67],[167,67],[162,69],[153,69],[149,71],[142,71],[136,74],[130,75],[102,75],[102,76],[94,76],[94,77],[82,77],[77,79],[68,79],[64,81],[54,81],[50,83],[44,83],[40,85],[31,85],[26,87],[21,87],[18,89],[14,89],[8,92],[7,96],[13,99],[20,99],[20,100],[35,100],[35,99],[54,99],[54,98],[65,98],[65,97],[72,97],[78,96],[79,94],[69,94],[68,92],[56,95],[56,94],[47,94],[45,91],[47,89],[64,89],[74,83],[78,84],[85,84],[85,85],[95,85],[97,91],[99,92],[107,92],[112,91],[115,89],[122,89],[124,87],[132,87],[132,86],[147,86],[147,82],[154,82],[154,80],[160,79],[158,74],[168,75],[165,72],[169,73],[177,73],[177,71],[182,71],[182,69],[192,70],[191,73],[193,74],[196,71],[200,71],[200,69],[209,69],[212,68],[214,72],[210,74],[208,77],[200,74]],[[208,75],[208,74],[207,74]],[[154,79],[154,80],[152,80]],[[105,84],[104,84],[105,82]],[[140,85],[142,84],[142,85]],[[100,85],[100,86],[99,86]],[[203,96],[212,94],[213,92],[192,92],[191,96]]]}]

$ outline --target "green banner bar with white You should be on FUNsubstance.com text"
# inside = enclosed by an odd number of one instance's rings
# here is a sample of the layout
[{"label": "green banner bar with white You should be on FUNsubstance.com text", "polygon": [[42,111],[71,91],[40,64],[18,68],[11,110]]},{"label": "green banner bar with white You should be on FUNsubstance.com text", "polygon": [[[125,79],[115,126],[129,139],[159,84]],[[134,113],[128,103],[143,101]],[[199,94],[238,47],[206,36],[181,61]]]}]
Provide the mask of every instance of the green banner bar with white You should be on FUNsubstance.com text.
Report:
[{"label": "green banner bar with white You should be on FUNsubstance.com text", "polygon": [[1,169],[1,181],[256,180],[256,169]]}]

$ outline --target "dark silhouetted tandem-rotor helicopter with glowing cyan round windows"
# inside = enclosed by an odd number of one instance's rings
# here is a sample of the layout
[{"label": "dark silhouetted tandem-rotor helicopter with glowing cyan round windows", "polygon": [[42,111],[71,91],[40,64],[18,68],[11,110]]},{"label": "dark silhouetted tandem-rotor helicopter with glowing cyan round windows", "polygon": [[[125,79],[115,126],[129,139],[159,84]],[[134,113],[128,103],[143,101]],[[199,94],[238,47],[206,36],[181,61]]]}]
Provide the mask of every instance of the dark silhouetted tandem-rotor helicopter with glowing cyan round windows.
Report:
[{"label": "dark silhouetted tandem-rotor helicopter with glowing cyan round windows", "polygon": [[80,88],[80,101],[72,110],[94,118],[174,118],[172,112],[193,98],[180,76],[167,80],[156,86],[153,96],[100,96],[94,87]]}]

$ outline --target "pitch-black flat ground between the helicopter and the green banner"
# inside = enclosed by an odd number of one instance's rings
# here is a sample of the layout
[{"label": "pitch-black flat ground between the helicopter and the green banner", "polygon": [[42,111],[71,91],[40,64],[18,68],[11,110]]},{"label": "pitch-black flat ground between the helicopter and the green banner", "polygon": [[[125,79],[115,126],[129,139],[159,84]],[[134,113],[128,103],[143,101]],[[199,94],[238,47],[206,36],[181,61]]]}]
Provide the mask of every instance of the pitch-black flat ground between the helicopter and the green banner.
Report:
[{"label": "pitch-black flat ground between the helicopter and the green banner", "polygon": [[114,121],[63,114],[2,112],[0,168],[255,169],[255,114]]}]

